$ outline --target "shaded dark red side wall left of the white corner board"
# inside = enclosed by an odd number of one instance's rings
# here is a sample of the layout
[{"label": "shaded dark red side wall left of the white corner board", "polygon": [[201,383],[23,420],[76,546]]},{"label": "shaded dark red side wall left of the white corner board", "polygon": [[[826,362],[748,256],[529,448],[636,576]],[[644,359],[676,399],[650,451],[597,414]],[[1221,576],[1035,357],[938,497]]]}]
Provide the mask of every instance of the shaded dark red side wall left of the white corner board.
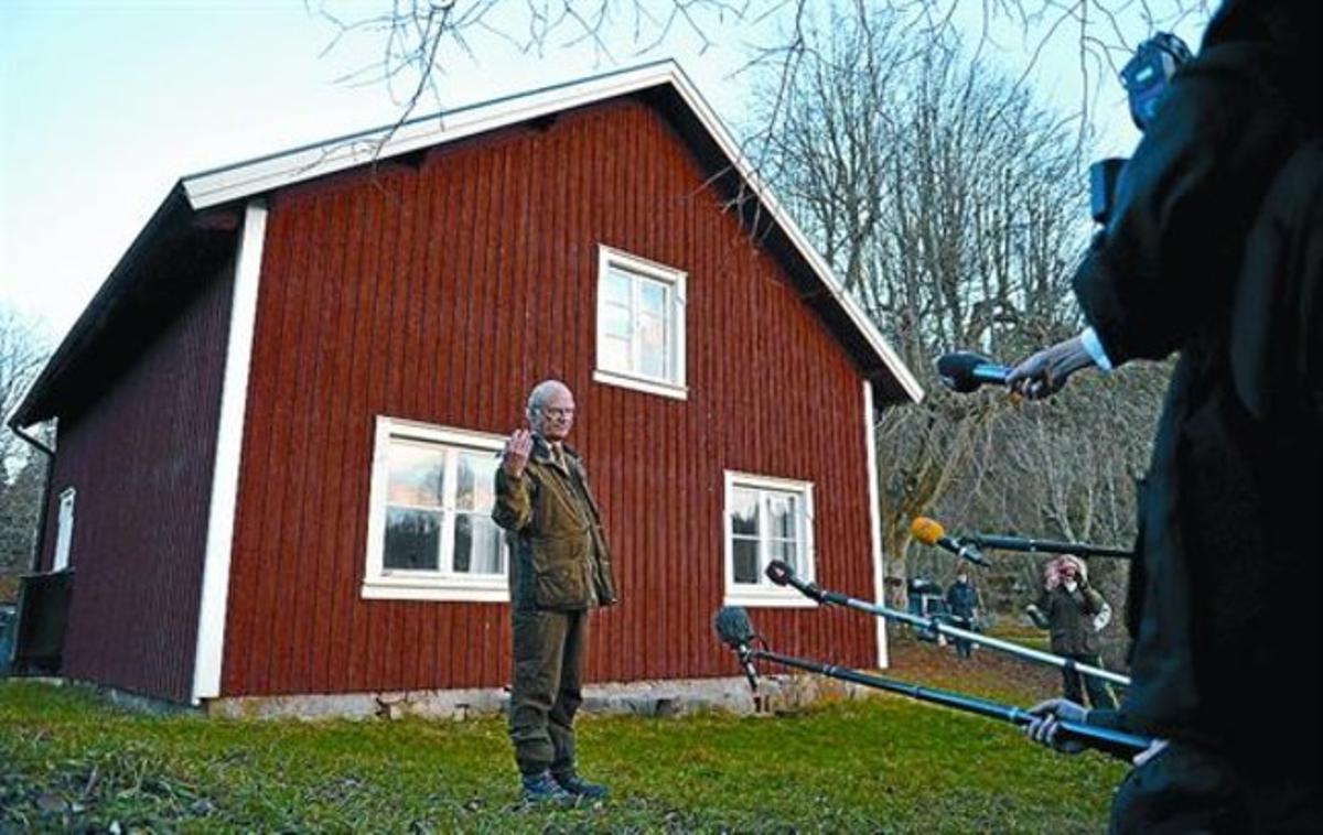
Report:
[{"label": "shaded dark red side wall left of the white corner board", "polygon": [[99,400],[61,416],[42,565],[60,494],[74,488],[66,676],[175,702],[192,695],[232,271]]}]

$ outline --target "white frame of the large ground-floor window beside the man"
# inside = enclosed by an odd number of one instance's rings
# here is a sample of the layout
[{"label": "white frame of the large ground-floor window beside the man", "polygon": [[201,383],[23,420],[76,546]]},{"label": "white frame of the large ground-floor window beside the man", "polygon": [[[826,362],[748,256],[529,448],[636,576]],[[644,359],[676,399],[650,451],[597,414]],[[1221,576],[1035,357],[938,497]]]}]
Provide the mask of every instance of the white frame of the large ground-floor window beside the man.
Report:
[{"label": "white frame of the large ground-floor window beside the man", "polygon": [[[368,542],[363,577],[365,600],[466,600],[479,602],[509,601],[509,562],[513,555],[505,548],[507,575],[468,576],[442,571],[417,571],[385,567],[386,495],[390,481],[390,441],[422,441],[438,447],[470,451],[500,452],[505,437],[487,432],[472,432],[438,427],[414,420],[377,416],[376,441],[372,453],[372,488],[368,499]],[[452,466],[452,465],[448,465]],[[455,484],[451,477],[447,484]],[[454,525],[454,509],[447,507],[442,527],[442,543],[448,542]]]}]

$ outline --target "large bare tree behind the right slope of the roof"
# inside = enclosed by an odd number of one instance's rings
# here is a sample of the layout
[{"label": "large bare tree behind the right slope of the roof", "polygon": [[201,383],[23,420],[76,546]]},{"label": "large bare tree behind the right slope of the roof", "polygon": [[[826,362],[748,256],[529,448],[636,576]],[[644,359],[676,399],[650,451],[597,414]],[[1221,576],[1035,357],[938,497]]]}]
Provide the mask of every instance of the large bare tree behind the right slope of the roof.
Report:
[{"label": "large bare tree behind the right slope of the roof", "polygon": [[927,399],[878,425],[882,548],[908,576],[909,523],[958,484],[1009,408],[945,391],[933,358],[1017,350],[1076,326],[1068,275],[1088,231],[1065,123],[955,38],[918,38],[894,15],[806,29],[803,65],[767,110],[783,115],[763,169]]}]

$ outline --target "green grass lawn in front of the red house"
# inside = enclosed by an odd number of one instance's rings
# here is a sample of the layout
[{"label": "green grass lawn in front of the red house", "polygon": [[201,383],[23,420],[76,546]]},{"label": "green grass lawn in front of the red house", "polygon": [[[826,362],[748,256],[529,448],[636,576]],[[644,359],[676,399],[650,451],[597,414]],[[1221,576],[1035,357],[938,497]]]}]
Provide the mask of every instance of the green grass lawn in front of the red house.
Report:
[{"label": "green grass lawn in front of the red house", "polygon": [[[1056,672],[893,643],[886,675],[1027,706]],[[898,696],[794,715],[579,720],[593,809],[524,810],[497,717],[144,716],[0,683],[0,831],[1102,831],[1125,765]]]}]

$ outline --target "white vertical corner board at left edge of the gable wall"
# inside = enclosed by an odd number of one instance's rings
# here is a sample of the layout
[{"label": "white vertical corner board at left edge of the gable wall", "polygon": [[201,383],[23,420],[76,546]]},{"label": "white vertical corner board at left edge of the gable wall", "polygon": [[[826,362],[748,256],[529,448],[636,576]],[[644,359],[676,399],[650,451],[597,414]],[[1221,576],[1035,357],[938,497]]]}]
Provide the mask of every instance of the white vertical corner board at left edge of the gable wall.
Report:
[{"label": "white vertical corner board at left edge of the gable wall", "polygon": [[230,555],[234,548],[234,511],[239,486],[243,414],[247,407],[249,367],[257,321],[257,287],[266,240],[266,202],[249,201],[234,263],[234,297],[225,351],[221,416],[212,472],[212,506],[202,558],[202,596],[197,610],[197,651],[193,659],[193,704],[221,695],[225,650],[225,614],[230,592]]}]

